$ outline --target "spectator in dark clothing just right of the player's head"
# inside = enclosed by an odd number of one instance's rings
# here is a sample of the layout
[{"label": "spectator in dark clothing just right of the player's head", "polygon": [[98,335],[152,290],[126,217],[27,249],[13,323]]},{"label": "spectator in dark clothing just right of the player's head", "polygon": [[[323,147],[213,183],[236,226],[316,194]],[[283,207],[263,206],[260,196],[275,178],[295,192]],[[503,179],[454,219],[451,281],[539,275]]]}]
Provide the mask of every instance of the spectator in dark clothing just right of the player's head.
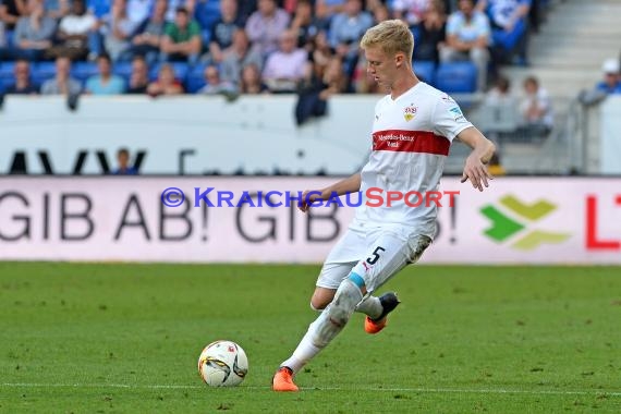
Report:
[{"label": "spectator in dark clothing just right of the player's head", "polygon": [[447,39],[445,3],[433,0],[418,25],[418,39],[414,47],[414,60],[440,61],[440,47]]}]

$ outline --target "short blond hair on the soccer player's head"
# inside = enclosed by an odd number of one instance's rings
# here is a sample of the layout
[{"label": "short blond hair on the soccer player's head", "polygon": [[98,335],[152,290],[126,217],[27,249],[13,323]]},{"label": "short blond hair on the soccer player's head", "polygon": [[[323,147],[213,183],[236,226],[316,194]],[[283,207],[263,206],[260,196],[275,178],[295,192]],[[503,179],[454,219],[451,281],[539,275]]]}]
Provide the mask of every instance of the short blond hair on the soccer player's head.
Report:
[{"label": "short blond hair on the soccer player's head", "polygon": [[414,36],[405,23],[400,20],[386,20],[373,26],[361,40],[363,49],[379,46],[387,54],[405,53],[412,60],[414,52]]}]

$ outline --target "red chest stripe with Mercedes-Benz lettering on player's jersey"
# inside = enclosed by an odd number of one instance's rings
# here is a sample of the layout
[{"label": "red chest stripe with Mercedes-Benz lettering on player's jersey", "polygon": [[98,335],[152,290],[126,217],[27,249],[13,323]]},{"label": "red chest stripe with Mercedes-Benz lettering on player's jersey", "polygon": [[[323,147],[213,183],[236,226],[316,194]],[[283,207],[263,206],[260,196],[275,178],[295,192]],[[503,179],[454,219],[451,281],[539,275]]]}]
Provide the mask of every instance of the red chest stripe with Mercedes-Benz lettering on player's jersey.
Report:
[{"label": "red chest stripe with Mercedes-Benz lettering on player's jersey", "polygon": [[425,153],[449,156],[451,143],[430,131],[385,130],[373,134],[374,151]]}]

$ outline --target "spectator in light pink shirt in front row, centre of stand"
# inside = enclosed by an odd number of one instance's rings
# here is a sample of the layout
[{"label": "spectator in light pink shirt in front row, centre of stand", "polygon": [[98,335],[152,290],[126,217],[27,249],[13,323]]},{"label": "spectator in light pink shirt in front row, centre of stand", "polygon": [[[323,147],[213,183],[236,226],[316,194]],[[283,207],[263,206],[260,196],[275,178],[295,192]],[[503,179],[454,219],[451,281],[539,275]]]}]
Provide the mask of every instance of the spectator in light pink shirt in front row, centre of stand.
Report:
[{"label": "spectator in light pink shirt in front row, centre of stand", "polygon": [[263,81],[270,92],[294,93],[297,83],[308,73],[308,53],[296,45],[296,33],[284,31],[280,36],[280,50],[268,57]]}]

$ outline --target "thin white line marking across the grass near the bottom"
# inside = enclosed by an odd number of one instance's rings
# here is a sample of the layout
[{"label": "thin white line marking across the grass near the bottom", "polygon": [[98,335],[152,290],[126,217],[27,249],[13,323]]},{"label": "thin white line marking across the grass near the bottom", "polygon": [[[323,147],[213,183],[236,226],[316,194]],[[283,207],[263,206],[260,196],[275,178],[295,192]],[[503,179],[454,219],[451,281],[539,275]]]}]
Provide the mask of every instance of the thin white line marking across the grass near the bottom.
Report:
[{"label": "thin white line marking across the grass near the bottom", "polygon": [[[197,389],[206,386],[184,385],[127,385],[127,383],[36,383],[3,382],[10,388],[126,388],[126,389]],[[241,386],[241,389],[268,390],[270,387]],[[460,388],[402,388],[402,387],[307,387],[303,391],[385,391],[385,392],[427,392],[427,393],[480,393],[480,394],[531,394],[531,395],[609,395],[621,397],[619,390],[506,390],[506,389],[460,389]]]}]

